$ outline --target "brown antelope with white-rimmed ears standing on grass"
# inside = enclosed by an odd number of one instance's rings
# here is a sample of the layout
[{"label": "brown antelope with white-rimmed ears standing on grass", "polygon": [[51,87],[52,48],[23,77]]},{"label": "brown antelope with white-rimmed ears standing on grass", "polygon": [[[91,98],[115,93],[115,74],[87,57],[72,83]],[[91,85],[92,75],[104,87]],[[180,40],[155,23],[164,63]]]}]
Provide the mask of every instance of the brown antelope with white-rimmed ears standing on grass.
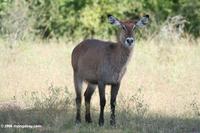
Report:
[{"label": "brown antelope with white-rimmed ears standing on grass", "polygon": [[81,122],[82,83],[86,81],[88,84],[84,93],[86,122],[92,122],[90,100],[96,86],[98,86],[100,96],[99,125],[102,126],[104,124],[105,86],[111,85],[110,124],[115,125],[116,97],[135,45],[133,30],[137,27],[145,26],[148,23],[149,15],[145,15],[137,21],[119,21],[117,18],[108,15],[108,20],[111,24],[119,26],[121,29],[116,43],[95,39],[84,40],[72,52],[77,123]]}]

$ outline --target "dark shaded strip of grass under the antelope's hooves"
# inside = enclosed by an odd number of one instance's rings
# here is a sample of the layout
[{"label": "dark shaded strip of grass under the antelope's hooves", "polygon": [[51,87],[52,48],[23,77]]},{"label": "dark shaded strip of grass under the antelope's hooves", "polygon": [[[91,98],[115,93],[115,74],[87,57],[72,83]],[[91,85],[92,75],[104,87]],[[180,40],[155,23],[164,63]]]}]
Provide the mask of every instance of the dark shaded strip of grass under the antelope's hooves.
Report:
[{"label": "dark shaded strip of grass under the antelope's hooves", "polygon": [[[67,111],[68,110],[68,111]],[[71,111],[70,111],[71,110]],[[84,111],[83,111],[84,112]],[[167,117],[160,114],[137,115],[131,112],[124,112],[123,109],[117,112],[117,125],[109,125],[109,112],[105,114],[105,126],[98,126],[98,112],[93,112],[93,123],[87,124],[82,115],[82,124],[75,125],[75,112],[73,109],[1,109],[0,110],[0,132],[1,133],[64,133],[64,132],[140,132],[140,133],[200,133],[200,118]],[[8,124],[8,125],[6,125]],[[4,127],[4,126],[12,127]],[[41,125],[41,127],[16,126]],[[14,127],[15,126],[15,127]]]}]

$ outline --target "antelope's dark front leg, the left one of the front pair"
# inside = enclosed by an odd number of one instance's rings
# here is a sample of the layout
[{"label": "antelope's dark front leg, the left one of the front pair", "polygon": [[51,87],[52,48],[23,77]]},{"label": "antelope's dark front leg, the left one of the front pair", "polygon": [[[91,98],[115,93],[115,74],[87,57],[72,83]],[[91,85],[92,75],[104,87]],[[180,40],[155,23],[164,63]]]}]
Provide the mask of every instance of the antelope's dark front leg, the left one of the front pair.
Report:
[{"label": "antelope's dark front leg, the left one of the front pair", "polygon": [[99,97],[100,97],[99,126],[103,126],[104,125],[104,107],[106,104],[105,84],[103,82],[99,82],[98,87],[99,87]]}]

